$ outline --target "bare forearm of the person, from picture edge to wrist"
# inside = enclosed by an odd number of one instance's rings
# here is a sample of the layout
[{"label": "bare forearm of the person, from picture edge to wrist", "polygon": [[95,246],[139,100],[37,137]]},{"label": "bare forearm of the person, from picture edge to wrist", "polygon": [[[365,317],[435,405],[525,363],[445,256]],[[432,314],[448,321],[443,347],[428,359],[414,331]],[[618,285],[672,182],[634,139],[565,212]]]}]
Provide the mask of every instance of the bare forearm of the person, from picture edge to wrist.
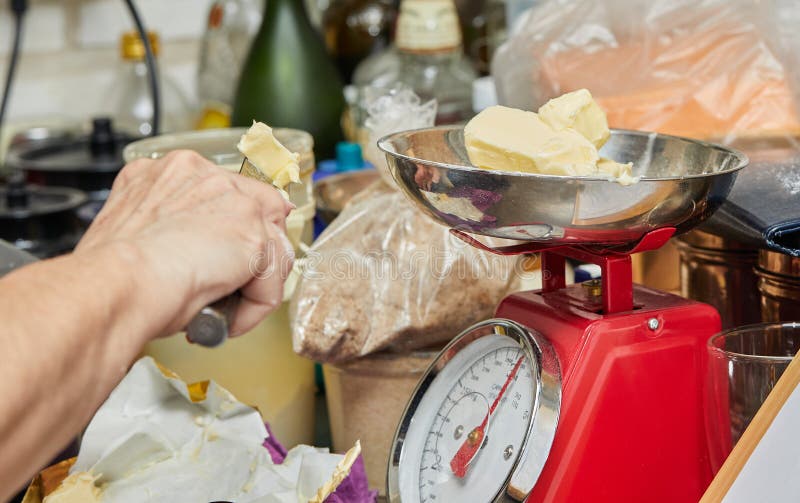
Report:
[{"label": "bare forearm of the person, from picture edge to wrist", "polygon": [[68,255],[0,280],[0,500],[80,431],[163,328],[141,314],[140,272],[119,251]]}]

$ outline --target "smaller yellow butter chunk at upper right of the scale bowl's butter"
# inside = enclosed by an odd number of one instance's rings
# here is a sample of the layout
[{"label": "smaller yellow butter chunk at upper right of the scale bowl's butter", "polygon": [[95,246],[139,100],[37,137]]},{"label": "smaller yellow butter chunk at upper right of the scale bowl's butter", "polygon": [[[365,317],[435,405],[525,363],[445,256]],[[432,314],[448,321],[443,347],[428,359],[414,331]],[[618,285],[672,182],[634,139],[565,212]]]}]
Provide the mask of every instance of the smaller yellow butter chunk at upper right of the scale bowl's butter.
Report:
[{"label": "smaller yellow butter chunk at upper right of the scale bowl's butter", "polygon": [[596,148],[605,145],[611,136],[605,112],[586,89],[548,101],[539,108],[539,118],[556,131],[574,129]]}]

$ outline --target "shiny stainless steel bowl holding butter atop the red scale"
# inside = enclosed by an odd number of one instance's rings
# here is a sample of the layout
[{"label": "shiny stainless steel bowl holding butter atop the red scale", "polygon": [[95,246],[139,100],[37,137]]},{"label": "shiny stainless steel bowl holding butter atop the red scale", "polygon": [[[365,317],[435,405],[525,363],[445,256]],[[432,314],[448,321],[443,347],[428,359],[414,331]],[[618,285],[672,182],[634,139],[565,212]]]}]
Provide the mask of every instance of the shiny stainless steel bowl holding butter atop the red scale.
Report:
[{"label": "shiny stainless steel bowl holding butter atop the red scale", "polygon": [[685,232],[711,215],[747,157],[697,140],[613,130],[600,154],[632,162],[638,183],[479,169],[463,129],[445,126],[383,138],[400,188],[442,224],[551,245],[633,243],[647,232]]}]

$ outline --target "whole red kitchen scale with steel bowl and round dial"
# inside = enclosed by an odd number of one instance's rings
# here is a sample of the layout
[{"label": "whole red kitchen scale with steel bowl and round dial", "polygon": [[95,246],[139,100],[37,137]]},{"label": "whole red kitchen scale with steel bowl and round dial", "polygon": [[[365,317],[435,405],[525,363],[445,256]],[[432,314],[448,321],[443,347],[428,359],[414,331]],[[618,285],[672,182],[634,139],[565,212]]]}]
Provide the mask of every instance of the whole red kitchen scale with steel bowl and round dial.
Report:
[{"label": "whole red kitchen scale with steel bowl and round dial", "polygon": [[[486,251],[539,252],[543,272],[541,290],[506,297],[420,380],[394,439],[389,501],[699,500],[713,477],[702,389],[719,315],[633,285],[631,255],[708,218],[747,158],[613,131],[601,155],[633,163],[638,182],[625,186],[474,168],[460,127],[379,146],[425,213]],[[566,286],[566,258],[598,264],[602,279]]]}]

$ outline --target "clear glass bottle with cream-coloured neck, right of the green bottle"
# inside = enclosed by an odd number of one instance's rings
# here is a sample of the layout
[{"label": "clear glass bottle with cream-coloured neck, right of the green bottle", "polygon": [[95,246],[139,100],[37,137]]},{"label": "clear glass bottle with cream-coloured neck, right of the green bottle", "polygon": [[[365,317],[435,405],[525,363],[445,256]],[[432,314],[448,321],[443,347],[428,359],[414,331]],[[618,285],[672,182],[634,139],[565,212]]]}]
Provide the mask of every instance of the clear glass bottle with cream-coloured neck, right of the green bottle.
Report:
[{"label": "clear glass bottle with cream-coloured neck, right of the green bottle", "polygon": [[402,82],[423,100],[437,100],[437,124],[467,120],[472,115],[472,81],[477,74],[461,44],[453,0],[403,0],[395,47],[365,60],[354,82],[360,88]]}]

